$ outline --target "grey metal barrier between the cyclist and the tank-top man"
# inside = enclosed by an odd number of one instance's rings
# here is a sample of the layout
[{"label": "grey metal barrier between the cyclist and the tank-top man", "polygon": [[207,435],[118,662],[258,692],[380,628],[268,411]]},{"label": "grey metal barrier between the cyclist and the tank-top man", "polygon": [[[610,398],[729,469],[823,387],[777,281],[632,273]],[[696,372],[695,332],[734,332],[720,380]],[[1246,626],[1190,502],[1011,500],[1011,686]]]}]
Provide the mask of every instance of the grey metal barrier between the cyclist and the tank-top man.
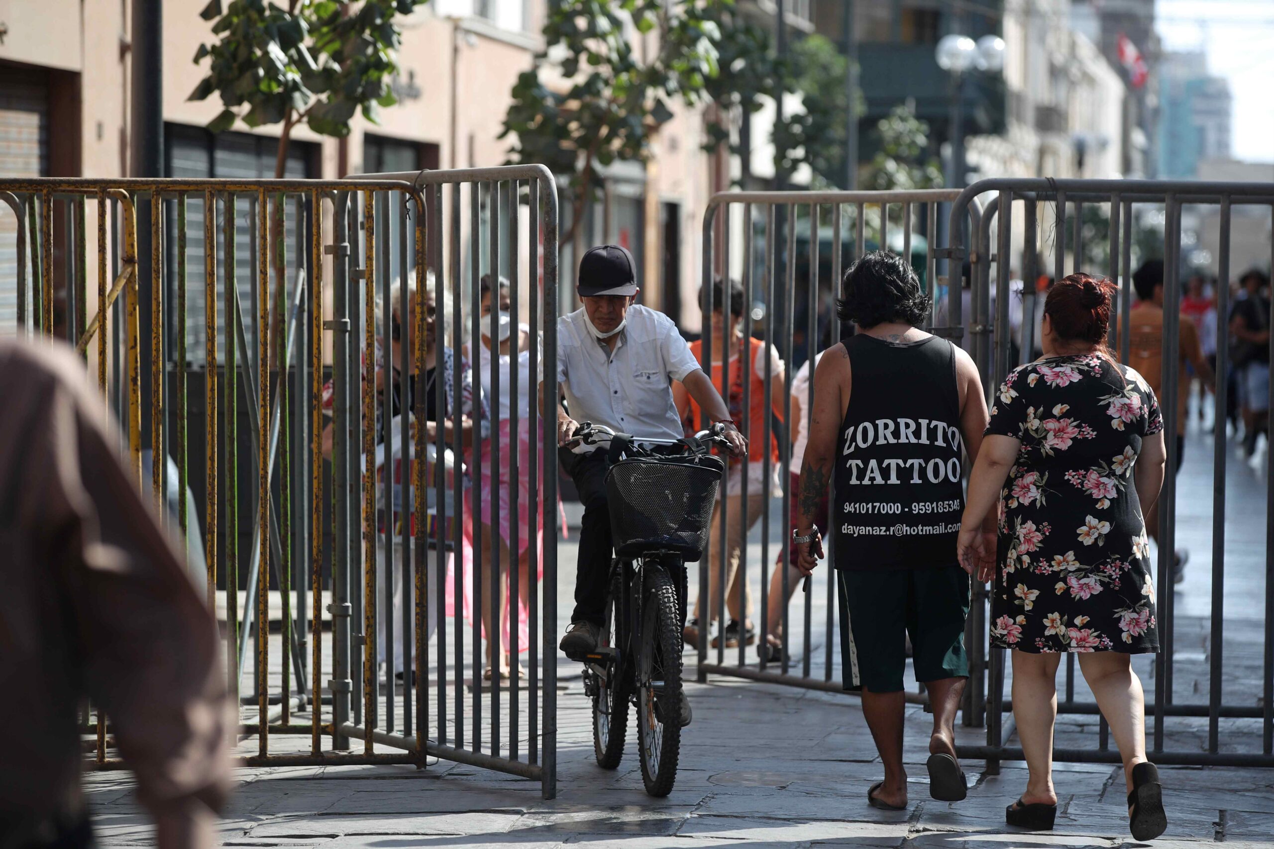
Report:
[{"label": "grey metal barrier between the cyclist and the tank-top man", "polygon": [[[800,457],[794,456],[795,440],[789,423],[795,419],[796,426],[803,421],[808,429],[817,391],[809,360],[817,351],[840,341],[833,307],[836,293],[843,267],[865,251],[888,247],[910,257],[929,294],[935,298],[945,295],[945,318],[939,314],[940,326],[931,330],[944,336],[958,335],[961,288],[958,283],[948,285],[947,276],[939,276],[941,263],[936,251],[939,205],[949,204],[958,196],[957,190],[724,192],[708,204],[703,219],[703,280],[729,279],[738,269],[745,309],[741,339],[734,337],[733,321],[721,322],[720,335],[713,339],[713,333],[708,332],[708,316],[721,305],[712,303],[715,295],[711,286],[705,286],[699,361],[705,364],[705,373],[719,384],[722,397],[733,409],[741,410],[735,417],[749,443],[763,448],[761,457],[753,456],[731,470],[739,480],[733,488],[734,495],[722,498],[736,498],[736,505],[733,510],[717,510],[713,521],[719,530],[713,531],[708,554],[699,564],[699,681],[705,681],[708,673],[716,673],[815,690],[842,690],[838,675],[833,676],[840,663],[840,652],[834,648],[838,639],[834,628],[834,570],[827,569],[820,573],[822,577],[812,579],[826,584],[820,592],[806,583],[799,596],[799,614],[794,616],[790,610],[799,575],[790,563],[789,551],[789,516],[795,498],[795,486],[789,481],[795,474],[794,461],[799,463]],[[733,215],[735,209],[740,211]],[[967,223],[977,233],[981,227],[978,202],[972,200],[964,204],[958,219],[953,215],[953,225]],[[975,257],[975,265],[977,262],[980,258]],[[959,279],[958,272],[953,276]],[[758,326],[761,321],[763,325]],[[753,340],[758,333],[763,344]],[[749,347],[740,355],[743,346]],[[722,350],[729,351],[729,356],[721,358]],[[739,367],[731,377],[733,368],[720,368],[720,364],[735,356]],[[708,363],[713,363],[713,368],[708,368]],[[808,373],[808,386],[800,397],[790,391],[798,367]],[[784,370],[780,372],[780,368]],[[759,423],[752,412],[757,391],[754,381],[759,383],[763,396],[762,412],[757,414]],[[731,398],[731,395],[735,397]],[[800,406],[799,412],[794,412],[794,401]],[[759,471],[759,475],[745,470]],[[781,500],[773,572],[772,499]],[[730,518],[731,514],[736,517]],[[759,546],[749,546],[750,528],[757,521],[761,523]],[[831,527],[829,522],[823,524]],[[736,555],[733,549],[738,549]],[[750,570],[753,549],[759,549],[759,559],[755,561],[758,568]],[[832,556],[829,550],[828,558]],[[759,575],[759,616],[747,610],[750,605],[749,572]],[[777,603],[776,594],[780,596]],[[822,596],[819,603],[815,603],[817,596]],[[727,607],[731,608],[730,616],[739,621],[736,654],[731,648],[730,662],[726,652],[729,640],[724,636]],[[758,657],[749,659],[744,620],[754,621],[754,616],[761,625],[755,634]],[[715,619],[720,619],[720,628],[715,636],[710,636]],[[778,628],[773,629],[773,625]],[[985,620],[970,617],[971,634],[985,629]],[[762,654],[771,630],[777,630],[781,640],[781,649],[775,652],[777,657],[773,658]],[[800,648],[794,650],[789,635],[798,631],[801,635]],[[817,644],[819,636],[822,647]],[[768,650],[764,653],[769,654]],[[820,662],[817,658],[819,653]],[[966,699],[971,699],[976,690],[975,686],[968,687]],[[907,699],[924,703],[925,695],[908,692]],[[971,713],[966,710],[966,720],[968,717]]]}]

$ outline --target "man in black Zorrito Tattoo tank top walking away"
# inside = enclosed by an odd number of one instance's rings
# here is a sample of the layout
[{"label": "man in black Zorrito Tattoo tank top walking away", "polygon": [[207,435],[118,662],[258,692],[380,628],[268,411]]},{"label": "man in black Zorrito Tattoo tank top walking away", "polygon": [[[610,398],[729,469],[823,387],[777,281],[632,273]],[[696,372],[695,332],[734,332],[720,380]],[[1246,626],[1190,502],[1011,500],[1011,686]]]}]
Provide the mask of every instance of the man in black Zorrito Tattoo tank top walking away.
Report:
[{"label": "man in black Zorrito Tattoo tank top walking away", "polygon": [[[963,799],[954,720],[968,677],[964,617],[970,577],[957,561],[964,456],[977,456],[986,401],[968,354],[917,326],[930,309],[907,262],[868,253],[845,275],[837,309],[859,333],[814,372],[814,410],[801,467],[794,541],[798,569],[823,558],[818,502],[831,488],[833,565],[841,620],[841,676],[861,691],[884,764],[868,802],[907,804],[902,765],[905,642],[934,709],[930,794]],[[995,533],[994,522],[985,531]]]}]

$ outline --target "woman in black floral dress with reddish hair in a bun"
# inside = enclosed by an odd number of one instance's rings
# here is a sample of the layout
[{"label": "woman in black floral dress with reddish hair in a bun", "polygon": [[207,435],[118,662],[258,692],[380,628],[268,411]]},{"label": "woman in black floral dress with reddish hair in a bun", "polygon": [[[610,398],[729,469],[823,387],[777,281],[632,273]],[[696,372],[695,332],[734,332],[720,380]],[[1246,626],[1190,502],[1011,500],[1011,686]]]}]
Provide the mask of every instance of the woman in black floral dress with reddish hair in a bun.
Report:
[{"label": "woman in black floral dress with reddish hair in a bun", "polygon": [[[958,554],[992,580],[991,645],[1013,650],[1013,714],[1029,768],[1010,825],[1051,827],[1055,677],[1079,652],[1124,759],[1133,836],[1166,827],[1145,759],[1145,706],[1131,654],[1157,652],[1143,516],[1163,482],[1158,402],[1106,349],[1108,280],[1074,274],[1045,304],[1045,356],[999,388],[970,479]],[[995,552],[981,535],[999,502]]]}]

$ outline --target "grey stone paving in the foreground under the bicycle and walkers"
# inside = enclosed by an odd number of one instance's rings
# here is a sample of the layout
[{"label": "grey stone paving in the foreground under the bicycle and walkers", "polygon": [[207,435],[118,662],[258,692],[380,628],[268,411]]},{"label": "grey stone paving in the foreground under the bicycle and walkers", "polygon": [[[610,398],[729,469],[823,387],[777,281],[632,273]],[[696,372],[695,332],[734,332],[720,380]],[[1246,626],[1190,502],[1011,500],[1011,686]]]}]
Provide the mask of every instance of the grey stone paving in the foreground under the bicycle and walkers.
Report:
[{"label": "grey stone paving in the foreground under the bicycle and walkers", "polygon": [[[233,846],[527,846],[598,849],[733,846],[1120,846],[1127,834],[1116,769],[1059,765],[1061,811],[1052,834],[1013,832],[1004,806],[1026,783],[1020,765],[998,776],[967,764],[970,797],[929,798],[924,757],[929,717],[910,709],[911,806],[866,804],[883,771],[857,701],[772,685],[692,684],[676,787],[645,794],[636,751],[615,771],[592,761],[578,680],[562,694],[559,794],[544,801],[530,782],[441,762],[412,768],[240,770],[222,825]],[[1078,718],[1077,718],[1078,719]],[[961,729],[972,742],[982,732]],[[88,776],[104,845],[150,845],[148,818],[126,774]],[[1270,845],[1274,770],[1164,769],[1170,827],[1154,846]]]}]

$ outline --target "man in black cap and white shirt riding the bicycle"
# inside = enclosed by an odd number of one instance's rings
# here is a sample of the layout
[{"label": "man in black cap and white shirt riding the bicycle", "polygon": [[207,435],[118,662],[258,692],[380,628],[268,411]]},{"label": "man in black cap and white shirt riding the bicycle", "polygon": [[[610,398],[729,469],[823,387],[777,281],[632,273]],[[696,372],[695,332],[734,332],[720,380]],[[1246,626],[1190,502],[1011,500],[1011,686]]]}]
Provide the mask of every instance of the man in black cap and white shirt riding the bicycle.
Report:
[{"label": "man in black cap and white shirt riding the bicycle", "polygon": [[[633,303],[637,283],[626,248],[603,244],[585,253],[576,290],[583,307],[557,323],[558,384],[567,403],[558,407],[559,446],[571,440],[580,421],[637,437],[679,439],[683,430],[671,382],[680,381],[705,415],[725,425],[731,453],[747,453],[747,440],[673,319]],[[561,461],[583,504],[575,611],[561,648],[567,657],[581,658],[598,648],[610,578],[608,462],[605,452],[561,452]],[[680,614],[684,619],[685,611]]]}]

